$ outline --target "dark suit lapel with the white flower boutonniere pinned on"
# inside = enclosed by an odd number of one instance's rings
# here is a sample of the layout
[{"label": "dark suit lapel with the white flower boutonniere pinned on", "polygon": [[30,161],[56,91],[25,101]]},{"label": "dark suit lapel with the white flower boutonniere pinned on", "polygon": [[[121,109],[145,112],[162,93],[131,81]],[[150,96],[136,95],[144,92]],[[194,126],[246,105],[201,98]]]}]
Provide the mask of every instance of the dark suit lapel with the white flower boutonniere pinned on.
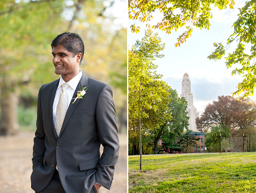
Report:
[{"label": "dark suit lapel with the white flower boutonniere pinned on", "polygon": [[[74,111],[75,108],[76,108],[76,105],[77,105],[77,104],[80,102],[80,100],[81,100],[81,99],[77,99],[76,102],[75,102],[74,104],[72,104],[72,102],[74,101],[74,98],[76,98],[76,93],[77,93],[77,91],[80,90],[79,87],[81,87],[81,85],[83,85],[83,87],[88,85],[88,77],[87,77],[84,73],[83,73],[82,78],[80,79],[79,83],[78,83],[77,86],[76,86],[76,90],[75,90],[75,92],[74,92],[74,94],[73,94],[73,97],[72,97],[72,100],[71,100],[71,102],[70,102],[70,104],[69,104],[69,106],[68,106],[67,113],[66,113],[66,116],[65,116],[65,118],[64,118],[62,127],[61,127],[60,135],[61,135],[61,133],[63,132],[63,130],[65,129],[65,126],[67,125],[67,122],[69,121],[69,119],[70,119],[70,117],[71,117],[73,111]],[[55,133],[56,133],[56,132],[55,132]],[[59,135],[59,136],[60,136],[60,135]],[[56,136],[57,136],[57,134],[56,134]]]}]

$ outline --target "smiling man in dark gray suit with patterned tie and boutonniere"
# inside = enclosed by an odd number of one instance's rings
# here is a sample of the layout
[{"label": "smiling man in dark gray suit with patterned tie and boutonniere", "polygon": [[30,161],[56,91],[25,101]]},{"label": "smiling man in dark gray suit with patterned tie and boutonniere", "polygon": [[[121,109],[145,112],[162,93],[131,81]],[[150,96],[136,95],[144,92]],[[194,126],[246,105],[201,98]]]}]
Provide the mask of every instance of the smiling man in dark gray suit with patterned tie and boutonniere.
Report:
[{"label": "smiling man in dark gray suit with patterned tie and boutonniere", "polygon": [[110,189],[119,150],[111,87],[80,70],[84,43],[78,34],[60,34],[51,46],[61,77],[39,90],[31,187],[68,193]]}]

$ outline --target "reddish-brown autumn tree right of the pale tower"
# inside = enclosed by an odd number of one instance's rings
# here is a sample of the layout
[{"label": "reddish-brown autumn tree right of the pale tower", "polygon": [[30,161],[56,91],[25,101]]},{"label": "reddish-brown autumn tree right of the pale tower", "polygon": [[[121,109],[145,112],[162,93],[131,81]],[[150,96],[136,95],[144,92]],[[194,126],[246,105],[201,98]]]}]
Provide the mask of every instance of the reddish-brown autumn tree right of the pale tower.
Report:
[{"label": "reddish-brown autumn tree right of the pale tower", "polygon": [[201,117],[196,119],[200,132],[208,132],[212,127],[223,125],[232,135],[255,133],[256,103],[247,98],[237,100],[231,96],[219,96],[217,101],[209,103]]}]

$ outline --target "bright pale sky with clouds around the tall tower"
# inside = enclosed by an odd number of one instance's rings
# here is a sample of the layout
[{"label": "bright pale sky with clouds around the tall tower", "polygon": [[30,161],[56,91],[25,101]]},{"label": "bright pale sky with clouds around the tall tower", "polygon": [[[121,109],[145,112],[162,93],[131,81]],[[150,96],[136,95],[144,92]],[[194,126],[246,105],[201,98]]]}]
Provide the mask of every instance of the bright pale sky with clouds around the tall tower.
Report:
[{"label": "bright pale sky with clouds around the tall tower", "polygon": [[[158,65],[157,72],[163,75],[163,80],[178,94],[181,93],[181,81],[185,73],[189,74],[191,81],[191,91],[194,97],[194,106],[202,114],[208,103],[217,100],[219,95],[231,95],[236,91],[237,84],[242,81],[242,76],[231,76],[234,67],[227,69],[225,66],[225,58],[218,61],[209,60],[207,58],[214,51],[213,43],[223,42],[224,45],[233,33],[232,25],[239,14],[239,7],[245,5],[245,1],[235,1],[234,10],[227,8],[226,10],[218,10],[212,6],[213,19],[210,20],[210,29],[193,28],[192,37],[189,37],[180,47],[175,47],[176,39],[185,29],[173,31],[166,34],[161,30],[154,30],[162,38],[165,43],[165,49],[162,52],[164,58],[158,58],[154,61]],[[150,25],[161,21],[161,13],[155,13]],[[136,25],[141,27],[139,33],[131,33],[129,28],[134,20],[128,21],[128,47],[141,40],[144,36],[146,23],[136,21]],[[235,46],[235,45],[234,45]],[[234,47],[230,46],[226,51],[226,55],[233,52]],[[236,64],[235,67],[239,67]],[[256,100],[255,95],[250,97]]]}]

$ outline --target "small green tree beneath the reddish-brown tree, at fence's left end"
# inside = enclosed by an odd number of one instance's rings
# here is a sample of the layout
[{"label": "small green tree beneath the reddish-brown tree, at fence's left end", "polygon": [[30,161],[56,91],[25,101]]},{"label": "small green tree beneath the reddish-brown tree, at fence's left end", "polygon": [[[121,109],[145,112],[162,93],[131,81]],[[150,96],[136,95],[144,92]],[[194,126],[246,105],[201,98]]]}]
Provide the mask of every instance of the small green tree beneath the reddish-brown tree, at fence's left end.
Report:
[{"label": "small green tree beneath the reddish-brown tree, at fence's left end", "polygon": [[223,137],[232,137],[227,126],[218,125],[212,127],[211,132],[205,135],[205,147],[207,147],[207,151],[220,152],[220,140]]}]

